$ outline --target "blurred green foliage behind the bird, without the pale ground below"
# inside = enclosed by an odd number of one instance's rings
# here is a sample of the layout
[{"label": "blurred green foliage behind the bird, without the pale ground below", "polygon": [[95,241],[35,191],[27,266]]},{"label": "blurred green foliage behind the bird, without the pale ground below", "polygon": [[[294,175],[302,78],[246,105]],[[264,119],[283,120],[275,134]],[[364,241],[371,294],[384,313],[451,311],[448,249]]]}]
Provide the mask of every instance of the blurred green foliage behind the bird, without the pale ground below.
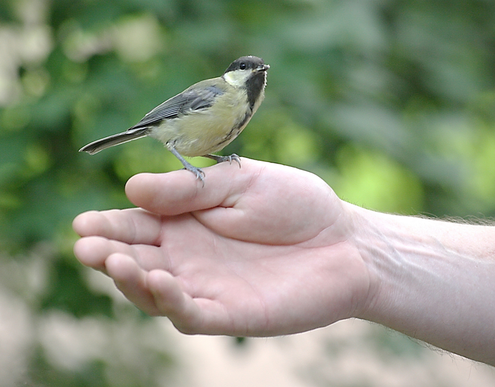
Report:
[{"label": "blurred green foliage behind the bird, without the pale ground below", "polygon": [[[2,1],[0,248],[51,241],[42,310],[112,316],[68,263],[70,222],[181,165],[150,139],[78,149],[246,54],[271,65],[267,97],[225,154],[307,169],[381,211],[494,216],[494,19],[481,0]],[[40,383],[99,385],[77,375]]]}]

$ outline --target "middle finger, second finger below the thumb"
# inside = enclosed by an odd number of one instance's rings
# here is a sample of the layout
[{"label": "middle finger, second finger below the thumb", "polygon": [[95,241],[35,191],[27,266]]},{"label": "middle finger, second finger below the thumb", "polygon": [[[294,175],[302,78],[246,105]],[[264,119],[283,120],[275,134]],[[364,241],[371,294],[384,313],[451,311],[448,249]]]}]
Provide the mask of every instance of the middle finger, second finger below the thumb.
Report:
[{"label": "middle finger, second finger below the thumb", "polygon": [[85,237],[74,244],[77,259],[93,269],[105,271],[105,260],[109,255],[122,253],[132,257],[144,270],[171,270],[169,259],[156,246],[108,240],[103,237]]}]

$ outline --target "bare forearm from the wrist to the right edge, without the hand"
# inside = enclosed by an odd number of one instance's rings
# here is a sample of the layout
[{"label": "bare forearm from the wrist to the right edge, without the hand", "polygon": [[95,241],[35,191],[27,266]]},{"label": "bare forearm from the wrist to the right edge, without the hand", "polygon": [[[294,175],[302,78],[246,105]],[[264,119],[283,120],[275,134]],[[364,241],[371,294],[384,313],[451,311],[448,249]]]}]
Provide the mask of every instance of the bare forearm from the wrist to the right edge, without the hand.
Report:
[{"label": "bare forearm from the wrist to the right edge, without the hand", "polygon": [[372,284],[360,317],[495,365],[495,227],[350,210]]}]

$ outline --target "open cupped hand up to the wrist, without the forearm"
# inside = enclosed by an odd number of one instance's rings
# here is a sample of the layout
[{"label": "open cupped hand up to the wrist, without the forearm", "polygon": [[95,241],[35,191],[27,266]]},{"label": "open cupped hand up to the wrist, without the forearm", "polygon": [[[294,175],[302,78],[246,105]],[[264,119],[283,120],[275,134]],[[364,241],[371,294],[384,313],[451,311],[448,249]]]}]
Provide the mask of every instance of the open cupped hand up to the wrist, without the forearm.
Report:
[{"label": "open cupped hand up to the wrist, without the forearm", "polygon": [[315,175],[242,159],[139,174],[141,208],[74,219],[74,252],[150,315],[189,334],[273,336],[358,316],[370,277],[353,241],[351,206]]}]

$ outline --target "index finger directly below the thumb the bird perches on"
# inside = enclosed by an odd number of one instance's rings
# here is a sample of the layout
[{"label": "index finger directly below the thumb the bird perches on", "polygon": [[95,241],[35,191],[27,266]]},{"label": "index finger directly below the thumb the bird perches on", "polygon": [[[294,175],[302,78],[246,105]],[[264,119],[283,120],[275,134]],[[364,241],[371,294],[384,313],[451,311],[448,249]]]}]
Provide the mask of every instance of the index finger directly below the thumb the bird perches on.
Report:
[{"label": "index finger directly below the thumb the bird perches on", "polygon": [[88,211],[76,216],[72,228],[81,237],[101,236],[131,244],[158,245],[161,220],[141,208]]}]

